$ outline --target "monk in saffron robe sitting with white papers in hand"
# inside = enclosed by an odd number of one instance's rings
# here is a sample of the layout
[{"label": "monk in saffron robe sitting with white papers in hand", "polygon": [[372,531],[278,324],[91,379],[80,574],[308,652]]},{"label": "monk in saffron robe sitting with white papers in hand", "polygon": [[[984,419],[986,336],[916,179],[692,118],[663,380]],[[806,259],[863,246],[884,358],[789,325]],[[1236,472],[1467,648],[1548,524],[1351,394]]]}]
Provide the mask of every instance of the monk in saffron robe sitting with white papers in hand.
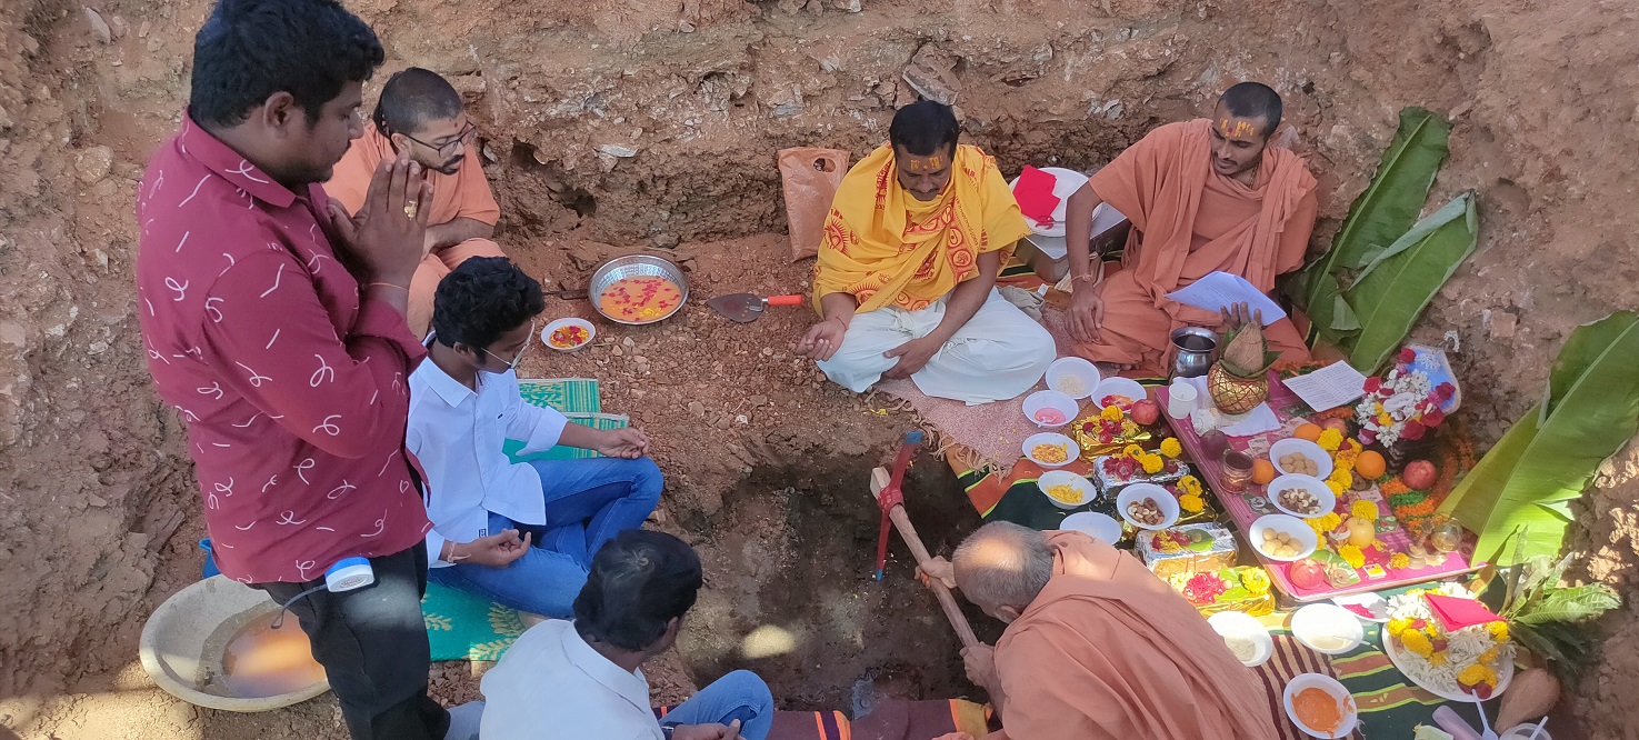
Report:
[{"label": "monk in saffron robe sitting with white papers in hand", "polygon": [[[1211,120],[1151,131],[1069,198],[1074,291],[1067,327],[1083,357],[1165,375],[1174,329],[1226,323],[1167,293],[1213,272],[1239,275],[1270,293],[1277,275],[1303,265],[1318,208],[1314,177],[1301,157],[1269,146],[1277,126],[1280,95],[1242,82],[1224,92]],[[1088,255],[1098,203],[1133,221],[1123,270],[1101,282]],[[1310,357],[1290,319],[1264,334],[1282,360]]]}]

